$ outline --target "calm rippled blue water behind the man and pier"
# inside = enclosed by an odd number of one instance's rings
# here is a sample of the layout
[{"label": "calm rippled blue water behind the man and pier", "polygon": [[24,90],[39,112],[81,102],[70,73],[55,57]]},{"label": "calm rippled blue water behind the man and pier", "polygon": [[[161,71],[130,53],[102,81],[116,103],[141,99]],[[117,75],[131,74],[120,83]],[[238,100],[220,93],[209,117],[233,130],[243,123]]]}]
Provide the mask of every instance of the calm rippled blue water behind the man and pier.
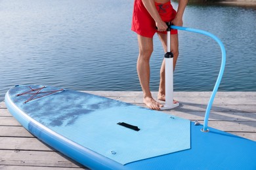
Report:
[{"label": "calm rippled blue water behind the man and pier", "polygon": [[[177,8],[177,3],[173,3]],[[139,91],[133,0],[0,0],[0,101],[16,84],[74,90]],[[209,31],[226,47],[220,91],[256,91],[256,10],[189,5],[184,26]],[[221,50],[208,37],[179,31],[175,91],[211,91]],[[156,36],[151,89],[163,51]]]}]

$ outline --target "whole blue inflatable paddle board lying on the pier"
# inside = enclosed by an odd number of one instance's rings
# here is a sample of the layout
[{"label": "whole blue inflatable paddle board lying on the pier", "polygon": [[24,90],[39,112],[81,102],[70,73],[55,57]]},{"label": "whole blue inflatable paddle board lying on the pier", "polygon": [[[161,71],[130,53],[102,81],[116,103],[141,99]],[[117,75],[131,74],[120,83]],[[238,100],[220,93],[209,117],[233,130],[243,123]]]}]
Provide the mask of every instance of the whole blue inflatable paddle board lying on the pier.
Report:
[{"label": "whole blue inflatable paddle board lying on the pier", "polygon": [[256,143],[129,103],[50,86],[14,86],[11,114],[91,169],[256,169]]}]

